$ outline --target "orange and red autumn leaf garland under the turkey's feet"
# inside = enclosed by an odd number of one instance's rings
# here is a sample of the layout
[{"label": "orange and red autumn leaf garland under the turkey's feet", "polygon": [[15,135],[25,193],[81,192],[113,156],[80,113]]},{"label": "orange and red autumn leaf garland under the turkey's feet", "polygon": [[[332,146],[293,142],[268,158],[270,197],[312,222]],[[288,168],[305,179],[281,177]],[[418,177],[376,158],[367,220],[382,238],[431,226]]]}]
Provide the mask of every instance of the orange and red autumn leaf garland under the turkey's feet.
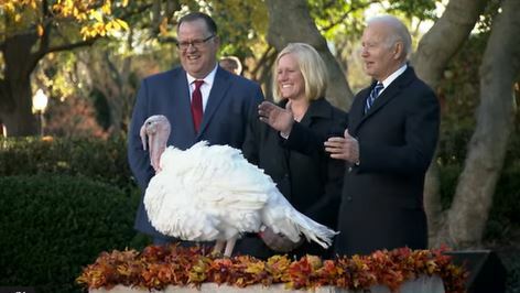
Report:
[{"label": "orange and red autumn leaf garland under the turkey's feet", "polygon": [[274,256],[262,261],[249,256],[220,258],[204,247],[149,246],[136,250],[102,252],[77,278],[88,289],[118,284],[162,290],[167,285],[199,286],[204,282],[245,287],[284,283],[288,289],[337,286],[349,290],[383,284],[396,291],[420,275],[438,275],[446,292],[465,292],[467,272],[452,263],[445,249],[376,251],[370,256],[322,260],[306,256],[292,261]]}]

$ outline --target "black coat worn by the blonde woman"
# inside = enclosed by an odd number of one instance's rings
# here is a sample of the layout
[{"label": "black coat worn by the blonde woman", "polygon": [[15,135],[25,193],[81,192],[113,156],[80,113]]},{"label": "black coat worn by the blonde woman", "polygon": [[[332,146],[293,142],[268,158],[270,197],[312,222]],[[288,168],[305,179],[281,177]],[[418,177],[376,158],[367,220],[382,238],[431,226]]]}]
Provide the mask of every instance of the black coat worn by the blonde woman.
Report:
[{"label": "black coat worn by the blonde woman", "polygon": [[[280,192],[297,210],[335,228],[345,163],[329,159],[324,152],[323,142],[331,132],[343,132],[345,127],[346,113],[321,98],[311,102],[286,141],[267,123],[253,121],[247,134],[243,154],[273,178]],[[306,130],[311,133],[305,132]],[[319,148],[307,148],[308,145]],[[237,242],[235,253],[237,252],[263,259],[278,253],[251,235]],[[305,242],[290,254],[328,256],[329,252],[332,249],[325,251],[317,245]]]}]

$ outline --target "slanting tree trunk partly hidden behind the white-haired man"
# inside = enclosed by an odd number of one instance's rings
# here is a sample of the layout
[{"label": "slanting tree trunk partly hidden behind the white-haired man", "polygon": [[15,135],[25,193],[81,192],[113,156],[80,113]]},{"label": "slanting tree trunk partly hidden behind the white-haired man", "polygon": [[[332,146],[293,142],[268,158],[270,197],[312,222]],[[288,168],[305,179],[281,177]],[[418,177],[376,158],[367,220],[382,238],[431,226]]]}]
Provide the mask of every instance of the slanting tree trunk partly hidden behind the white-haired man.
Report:
[{"label": "slanting tree trunk partly hidden behind the white-haired man", "polygon": [[[412,56],[418,75],[436,89],[448,61],[457,53],[472,32],[486,7],[485,0],[452,0],[441,19],[419,42]],[[449,40],[449,42],[445,42]],[[441,206],[438,170],[435,163],[426,173],[424,206],[429,218],[430,245],[437,246],[434,238],[444,221]]]}]

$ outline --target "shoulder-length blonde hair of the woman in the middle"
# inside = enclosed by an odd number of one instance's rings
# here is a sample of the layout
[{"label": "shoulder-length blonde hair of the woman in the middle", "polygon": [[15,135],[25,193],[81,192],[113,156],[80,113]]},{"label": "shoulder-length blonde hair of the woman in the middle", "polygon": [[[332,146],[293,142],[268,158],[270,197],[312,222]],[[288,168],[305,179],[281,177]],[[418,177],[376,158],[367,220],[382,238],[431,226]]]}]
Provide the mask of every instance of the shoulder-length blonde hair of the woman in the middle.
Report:
[{"label": "shoulder-length blonde hair of the woman in the middle", "polygon": [[290,43],[277,56],[272,73],[272,95],[274,101],[283,99],[278,85],[278,64],[280,58],[292,54],[296,59],[305,84],[305,98],[315,100],[324,97],[327,90],[327,67],[317,51],[305,43]]}]

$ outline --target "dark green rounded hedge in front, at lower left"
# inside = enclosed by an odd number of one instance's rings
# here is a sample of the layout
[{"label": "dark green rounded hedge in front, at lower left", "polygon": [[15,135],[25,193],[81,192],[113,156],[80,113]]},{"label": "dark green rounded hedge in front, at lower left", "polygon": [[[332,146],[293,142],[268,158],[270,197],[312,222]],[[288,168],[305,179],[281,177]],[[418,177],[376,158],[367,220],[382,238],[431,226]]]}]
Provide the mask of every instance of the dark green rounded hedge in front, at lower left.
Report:
[{"label": "dark green rounded hedge in front, at lower left", "polygon": [[79,292],[83,267],[131,243],[137,196],[79,176],[0,177],[0,284]]}]

